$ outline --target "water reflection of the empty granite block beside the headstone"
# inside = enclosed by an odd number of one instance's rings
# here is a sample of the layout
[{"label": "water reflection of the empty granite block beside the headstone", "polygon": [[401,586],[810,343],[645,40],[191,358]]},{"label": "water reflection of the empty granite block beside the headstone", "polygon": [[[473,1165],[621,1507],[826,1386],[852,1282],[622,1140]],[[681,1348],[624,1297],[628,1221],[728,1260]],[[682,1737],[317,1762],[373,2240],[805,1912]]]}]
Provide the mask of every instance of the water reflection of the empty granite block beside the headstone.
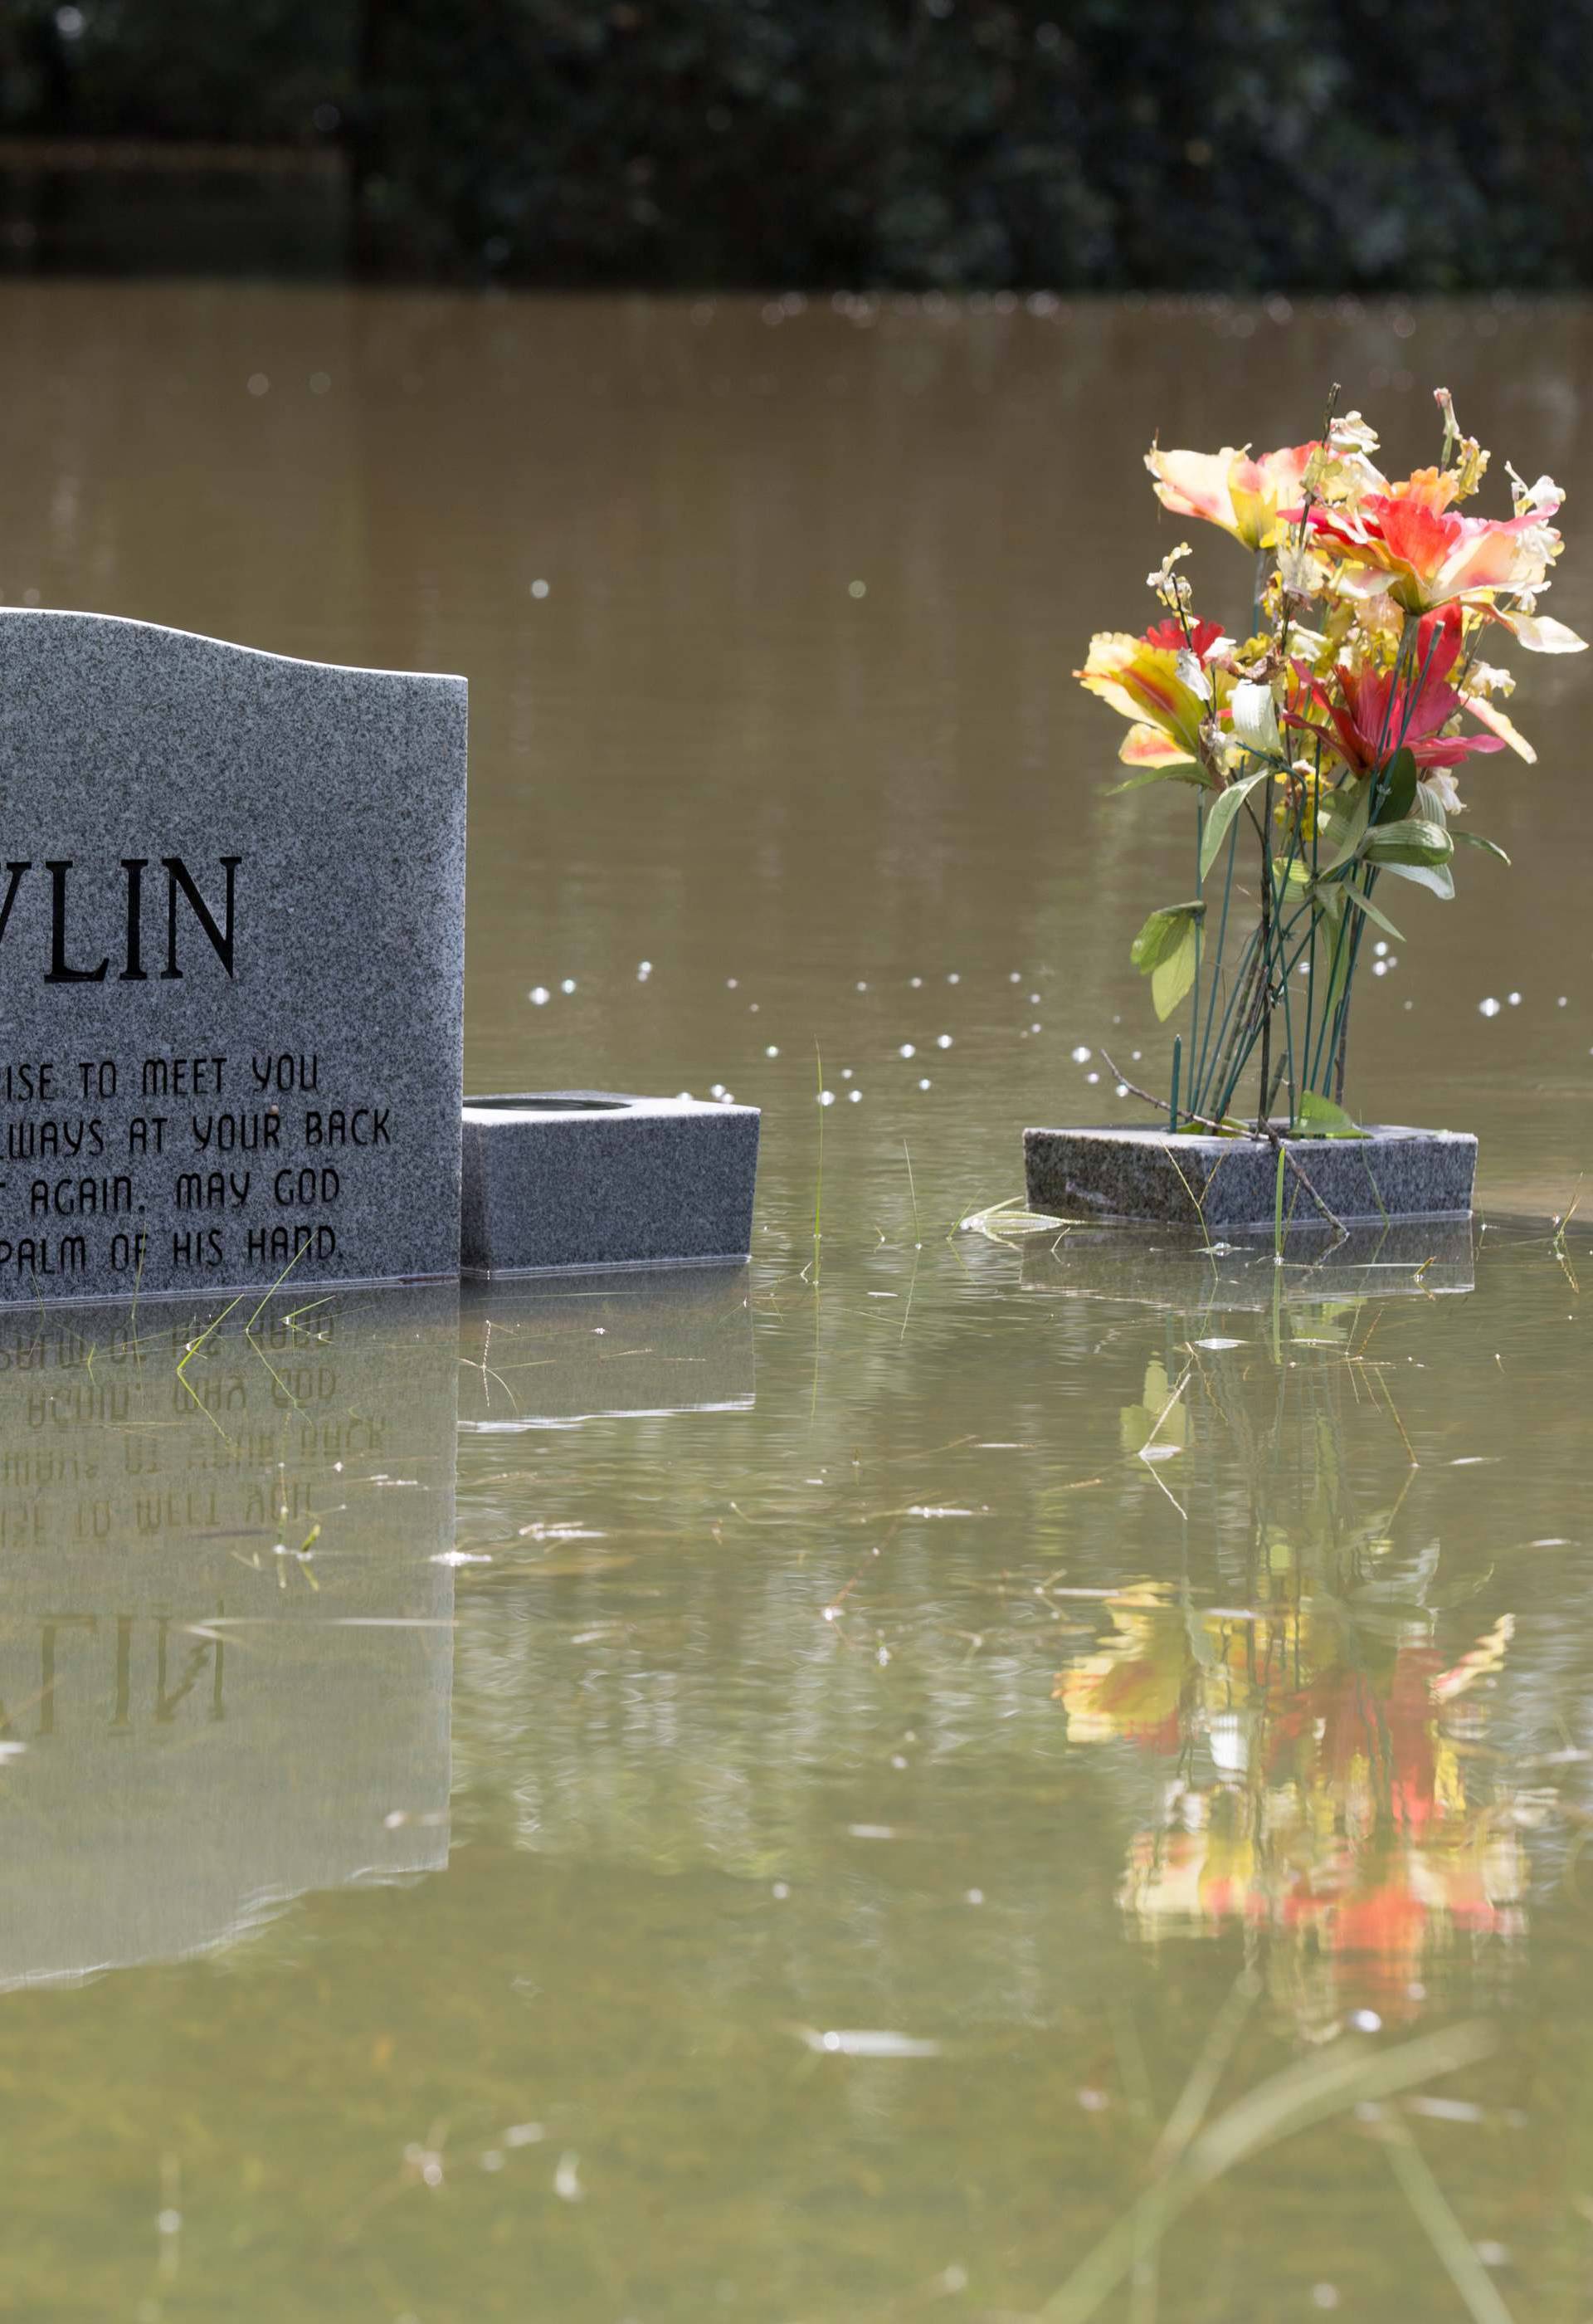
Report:
[{"label": "water reflection of the empty granite block beside the headstone", "polygon": [[729,1267],[467,1285],[460,1427],[752,1411],[748,1276]]}]

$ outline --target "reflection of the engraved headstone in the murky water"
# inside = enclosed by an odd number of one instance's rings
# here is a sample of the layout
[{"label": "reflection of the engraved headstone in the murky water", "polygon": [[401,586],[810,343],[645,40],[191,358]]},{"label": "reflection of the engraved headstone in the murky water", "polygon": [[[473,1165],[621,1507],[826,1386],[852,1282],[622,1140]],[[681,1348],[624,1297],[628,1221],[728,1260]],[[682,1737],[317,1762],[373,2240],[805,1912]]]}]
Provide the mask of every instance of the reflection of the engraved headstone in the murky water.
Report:
[{"label": "reflection of the engraved headstone in the murky water", "polygon": [[0,1987],[446,1862],[457,1294],[246,1313],[0,1318]]}]

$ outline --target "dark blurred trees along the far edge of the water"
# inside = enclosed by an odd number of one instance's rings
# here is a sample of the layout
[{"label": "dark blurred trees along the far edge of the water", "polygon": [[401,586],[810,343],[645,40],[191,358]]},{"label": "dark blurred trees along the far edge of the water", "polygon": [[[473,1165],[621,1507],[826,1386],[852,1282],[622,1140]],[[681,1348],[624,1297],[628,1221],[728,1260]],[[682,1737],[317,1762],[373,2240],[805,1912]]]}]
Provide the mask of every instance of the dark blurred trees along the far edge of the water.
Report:
[{"label": "dark blurred trees along the far edge of the water", "polygon": [[0,223],[202,165],[399,279],[1584,288],[1591,84],[1593,0],[5,0]]}]

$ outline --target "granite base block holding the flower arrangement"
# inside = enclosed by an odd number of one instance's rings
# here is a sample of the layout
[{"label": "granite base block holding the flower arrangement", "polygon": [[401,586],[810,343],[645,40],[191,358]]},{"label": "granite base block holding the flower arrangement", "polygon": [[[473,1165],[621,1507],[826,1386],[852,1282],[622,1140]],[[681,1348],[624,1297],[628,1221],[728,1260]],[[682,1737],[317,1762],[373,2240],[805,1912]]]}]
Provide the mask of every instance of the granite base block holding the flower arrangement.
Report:
[{"label": "granite base block holding the flower arrangement", "polygon": [[[1470,1218],[1477,1139],[1465,1129],[1396,1129],[1368,1122],[1365,1139],[1286,1139],[1321,1202],[1345,1222]],[[1029,1204],[1059,1218],[1270,1227],[1277,1150],[1266,1139],[1175,1139],[1166,1129],[1024,1129]],[[1321,1220],[1284,1169],[1284,1218]]]}]

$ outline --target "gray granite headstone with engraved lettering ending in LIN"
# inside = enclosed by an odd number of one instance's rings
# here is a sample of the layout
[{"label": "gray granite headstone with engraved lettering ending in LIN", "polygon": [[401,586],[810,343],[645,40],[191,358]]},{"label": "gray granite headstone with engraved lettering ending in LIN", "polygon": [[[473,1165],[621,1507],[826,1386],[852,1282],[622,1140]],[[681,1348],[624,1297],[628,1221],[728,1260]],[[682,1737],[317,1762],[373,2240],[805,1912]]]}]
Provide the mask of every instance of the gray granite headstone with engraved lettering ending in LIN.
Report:
[{"label": "gray granite headstone with engraved lettering ending in LIN", "polygon": [[0,1301],[453,1276],[464,681],[0,609]]}]

